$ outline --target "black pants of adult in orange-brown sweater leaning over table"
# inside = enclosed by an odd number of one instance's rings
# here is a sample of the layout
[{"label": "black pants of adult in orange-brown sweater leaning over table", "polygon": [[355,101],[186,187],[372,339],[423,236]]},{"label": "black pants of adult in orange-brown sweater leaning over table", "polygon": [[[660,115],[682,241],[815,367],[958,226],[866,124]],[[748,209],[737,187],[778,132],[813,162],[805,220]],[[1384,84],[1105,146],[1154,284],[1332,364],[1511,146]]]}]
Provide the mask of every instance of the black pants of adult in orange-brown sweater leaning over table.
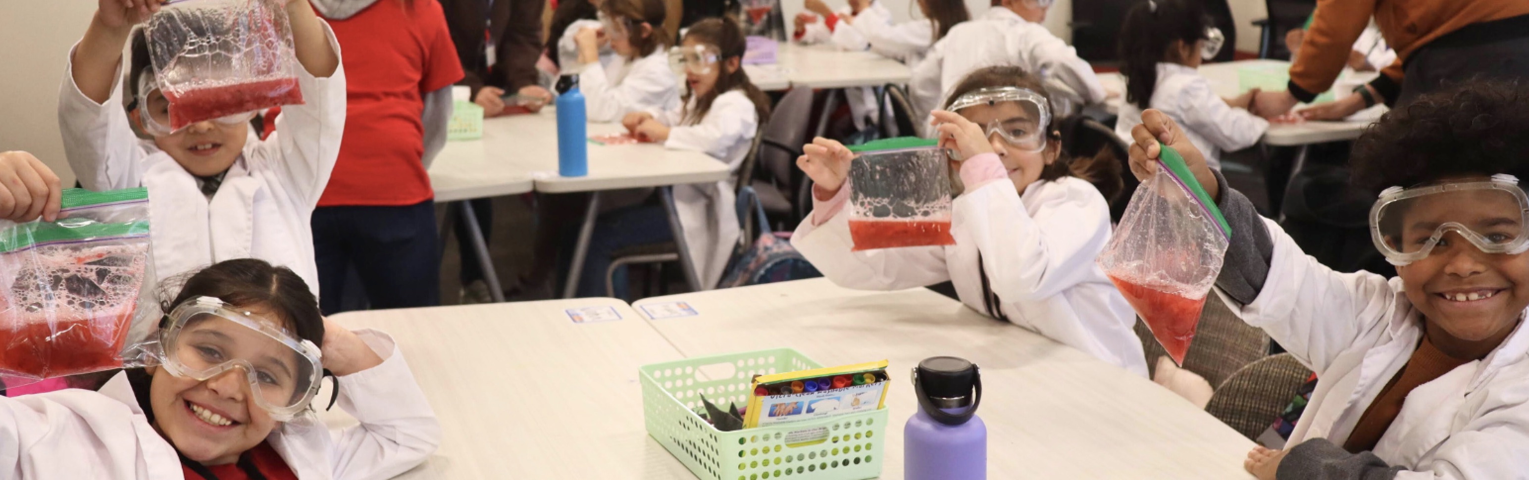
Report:
[{"label": "black pants of adult in orange-brown sweater leaning over table", "polygon": [[1529,15],[1469,24],[1417,49],[1394,105],[1472,78],[1529,79]]}]

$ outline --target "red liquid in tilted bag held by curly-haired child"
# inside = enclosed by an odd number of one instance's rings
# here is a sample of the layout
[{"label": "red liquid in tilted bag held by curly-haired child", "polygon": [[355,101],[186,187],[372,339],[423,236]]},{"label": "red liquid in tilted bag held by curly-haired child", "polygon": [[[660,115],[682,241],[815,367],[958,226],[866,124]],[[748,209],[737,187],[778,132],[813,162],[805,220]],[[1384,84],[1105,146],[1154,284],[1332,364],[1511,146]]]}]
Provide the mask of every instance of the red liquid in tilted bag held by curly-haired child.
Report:
[{"label": "red liquid in tilted bag held by curly-haired child", "polygon": [[1110,275],[1110,281],[1121,290],[1125,301],[1142,316],[1151,335],[1157,338],[1168,356],[1183,365],[1183,355],[1190,353],[1190,341],[1194,339],[1194,327],[1200,324],[1200,310],[1205,309],[1206,297],[1185,298],[1150,286]]}]

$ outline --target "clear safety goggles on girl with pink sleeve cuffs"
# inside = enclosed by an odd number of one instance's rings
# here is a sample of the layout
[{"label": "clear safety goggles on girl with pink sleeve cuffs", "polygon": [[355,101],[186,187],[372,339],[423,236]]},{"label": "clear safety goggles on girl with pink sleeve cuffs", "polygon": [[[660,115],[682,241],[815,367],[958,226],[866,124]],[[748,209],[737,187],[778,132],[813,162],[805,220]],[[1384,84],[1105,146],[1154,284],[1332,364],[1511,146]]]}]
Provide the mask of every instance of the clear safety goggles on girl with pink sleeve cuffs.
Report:
[{"label": "clear safety goggles on girl with pink sleeve cuffs", "polygon": [[948,112],[988,105],[995,118],[988,121],[985,131],[1024,151],[1046,150],[1046,125],[1050,125],[1050,107],[1046,96],[1020,87],[988,87],[957,96]]}]

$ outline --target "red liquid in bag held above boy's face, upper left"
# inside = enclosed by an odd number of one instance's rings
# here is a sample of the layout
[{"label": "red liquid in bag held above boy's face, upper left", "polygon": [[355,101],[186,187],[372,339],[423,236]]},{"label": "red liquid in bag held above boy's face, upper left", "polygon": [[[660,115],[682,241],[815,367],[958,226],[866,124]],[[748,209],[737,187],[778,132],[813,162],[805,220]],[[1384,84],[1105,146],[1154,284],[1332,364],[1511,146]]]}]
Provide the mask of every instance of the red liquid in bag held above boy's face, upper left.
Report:
[{"label": "red liquid in bag held above boy's face, upper left", "polygon": [[170,128],[219,116],[265,110],[303,102],[303,89],[297,78],[278,78],[232,84],[225,87],[187,89],[180,93],[165,92],[170,101]]}]

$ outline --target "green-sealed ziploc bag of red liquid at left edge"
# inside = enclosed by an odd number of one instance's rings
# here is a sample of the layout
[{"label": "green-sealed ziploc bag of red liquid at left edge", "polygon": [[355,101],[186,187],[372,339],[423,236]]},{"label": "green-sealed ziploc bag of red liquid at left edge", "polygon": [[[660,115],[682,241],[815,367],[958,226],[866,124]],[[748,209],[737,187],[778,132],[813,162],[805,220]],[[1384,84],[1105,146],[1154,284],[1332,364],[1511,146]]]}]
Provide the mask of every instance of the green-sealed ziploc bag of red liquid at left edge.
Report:
[{"label": "green-sealed ziploc bag of red liquid at left edge", "polygon": [[141,365],[157,327],[148,191],[64,190],[55,222],[0,220],[0,381]]}]

